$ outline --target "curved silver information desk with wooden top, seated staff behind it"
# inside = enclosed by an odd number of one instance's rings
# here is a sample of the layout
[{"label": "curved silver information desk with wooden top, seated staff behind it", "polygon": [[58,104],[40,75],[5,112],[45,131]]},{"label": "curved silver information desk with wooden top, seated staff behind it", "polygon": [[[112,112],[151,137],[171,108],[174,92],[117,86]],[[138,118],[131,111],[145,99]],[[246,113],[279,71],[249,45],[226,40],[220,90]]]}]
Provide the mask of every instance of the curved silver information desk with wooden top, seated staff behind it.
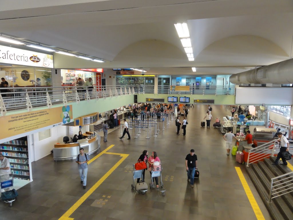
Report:
[{"label": "curved silver information desk with wooden top, seated staff behind it", "polygon": [[[83,134],[84,136],[89,134]],[[89,135],[90,136],[90,135]],[[84,148],[84,153],[91,155],[100,148],[101,137],[95,134],[92,138],[78,140],[76,143],[55,144],[53,149],[53,159],[74,160],[79,155],[79,148]]]}]

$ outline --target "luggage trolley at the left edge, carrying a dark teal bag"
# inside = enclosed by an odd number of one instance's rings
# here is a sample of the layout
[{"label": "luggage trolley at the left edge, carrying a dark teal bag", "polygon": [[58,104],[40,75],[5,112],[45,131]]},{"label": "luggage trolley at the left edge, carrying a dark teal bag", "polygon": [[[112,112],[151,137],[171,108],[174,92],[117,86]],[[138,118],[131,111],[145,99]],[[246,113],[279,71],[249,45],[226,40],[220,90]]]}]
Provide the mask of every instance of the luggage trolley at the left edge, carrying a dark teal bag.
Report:
[{"label": "luggage trolley at the left edge, carrying a dark teal bag", "polygon": [[[13,174],[12,173],[4,173],[0,174],[0,183],[1,183],[1,200],[6,203],[9,203],[9,206],[12,206],[12,202],[15,201],[16,195],[14,192],[15,189],[11,191],[6,191],[9,187],[13,188]],[[2,192],[4,191],[4,192]]]}]

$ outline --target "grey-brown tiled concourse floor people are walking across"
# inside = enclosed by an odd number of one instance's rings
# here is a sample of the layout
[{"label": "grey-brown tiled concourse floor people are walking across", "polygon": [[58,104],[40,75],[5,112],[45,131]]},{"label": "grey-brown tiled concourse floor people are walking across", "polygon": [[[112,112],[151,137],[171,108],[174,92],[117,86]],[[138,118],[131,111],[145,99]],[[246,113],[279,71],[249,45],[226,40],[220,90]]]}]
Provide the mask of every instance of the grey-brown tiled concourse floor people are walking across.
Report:
[{"label": "grey-brown tiled concourse floor people are walking across", "polygon": [[[101,150],[114,144],[108,152],[129,156],[69,217],[99,220],[256,219],[234,168],[240,166],[265,219],[270,219],[243,165],[237,164],[234,156],[226,155],[219,129],[200,127],[205,111],[204,105],[190,108],[186,136],[182,135],[182,130],[179,136],[176,135],[175,122],[169,126],[165,124],[165,131],[159,131],[156,138],[152,129],[150,139],[145,139],[146,131],[142,131],[139,138],[133,138],[135,129],[130,131],[130,141],[118,138],[120,129],[111,132],[108,142],[101,142]],[[222,118],[226,114],[228,111],[222,106],[213,106],[211,124],[216,117]],[[186,181],[185,171],[185,156],[191,148],[197,154],[200,171],[194,189]],[[142,195],[131,189],[129,167],[144,149],[158,153],[163,166],[165,197],[155,190],[149,189]],[[12,207],[0,203],[0,219],[59,219],[120,158],[119,155],[103,154],[91,163],[86,189],[82,189],[74,161],[55,163],[49,155],[34,162],[34,181],[18,190],[19,197]],[[146,172],[146,182],[150,182],[149,172]]]}]

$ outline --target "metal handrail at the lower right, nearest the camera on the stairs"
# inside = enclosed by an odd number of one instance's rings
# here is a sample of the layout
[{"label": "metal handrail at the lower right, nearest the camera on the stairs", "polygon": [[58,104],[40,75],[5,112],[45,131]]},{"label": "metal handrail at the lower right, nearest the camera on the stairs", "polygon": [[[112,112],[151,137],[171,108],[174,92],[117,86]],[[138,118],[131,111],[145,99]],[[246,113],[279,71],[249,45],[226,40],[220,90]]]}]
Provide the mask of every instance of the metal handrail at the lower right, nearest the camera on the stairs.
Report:
[{"label": "metal handrail at the lower right, nearest the camera on the stairs", "polygon": [[[282,177],[286,177],[286,178],[282,178]],[[289,180],[289,181],[285,181],[285,180]],[[272,199],[276,197],[293,192],[292,181],[293,181],[293,172],[285,173],[283,175],[271,178],[271,188],[270,188],[270,195],[269,195],[270,202],[272,202]],[[291,183],[287,184],[288,182],[291,182]]]}]

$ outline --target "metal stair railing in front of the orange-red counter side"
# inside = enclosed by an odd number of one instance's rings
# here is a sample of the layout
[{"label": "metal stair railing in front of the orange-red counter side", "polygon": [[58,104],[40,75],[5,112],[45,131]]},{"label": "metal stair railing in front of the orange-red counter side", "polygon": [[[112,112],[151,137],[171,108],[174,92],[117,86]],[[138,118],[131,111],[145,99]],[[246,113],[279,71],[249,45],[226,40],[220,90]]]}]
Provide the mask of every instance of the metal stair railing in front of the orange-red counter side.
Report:
[{"label": "metal stair railing in front of the orange-red counter side", "polygon": [[272,140],[249,150],[246,166],[249,166],[249,164],[255,163],[259,160],[268,158],[269,156],[273,156],[275,153],[275,146],[279,145],[279,142],[276,142],[276,140]]}]

